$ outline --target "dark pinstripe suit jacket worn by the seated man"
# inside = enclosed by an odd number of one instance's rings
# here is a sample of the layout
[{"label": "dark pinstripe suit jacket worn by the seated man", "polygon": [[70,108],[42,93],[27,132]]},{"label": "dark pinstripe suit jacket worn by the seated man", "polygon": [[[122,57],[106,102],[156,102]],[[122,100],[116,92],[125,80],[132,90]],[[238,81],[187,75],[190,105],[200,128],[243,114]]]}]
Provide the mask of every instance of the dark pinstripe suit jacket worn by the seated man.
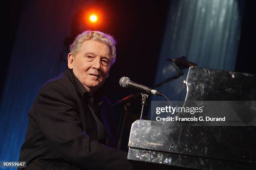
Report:
[{"label": "dark pinstripe suit jacket worn by the seated man", "polygon": [[[100,110],[107,120],[104,126],[84,105],[72,70],[46,82],[28,113],[26,140],[20,148],[19,160],[27,161],[26,170],[132,169],[127,154],[114,149],[113,110],[106,97]],[[99,127],[109,135],[108,146],[97,142]]]}]

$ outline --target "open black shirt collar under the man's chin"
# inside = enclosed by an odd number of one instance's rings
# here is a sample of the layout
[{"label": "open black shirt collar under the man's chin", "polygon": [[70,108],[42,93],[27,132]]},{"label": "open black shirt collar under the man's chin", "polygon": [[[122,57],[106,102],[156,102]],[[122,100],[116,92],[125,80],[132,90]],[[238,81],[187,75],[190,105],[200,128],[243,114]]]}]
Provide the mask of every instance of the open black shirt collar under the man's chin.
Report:
[{"label": "open black shirt collar under the man's chin", "polygon": [[[74,72],[72,70],[72,74],[74,75]],[[102,86],[100,87],[95,93],[94,95],[91,95],[90,92],[88,92],[86,90],[86,88],[82,85],[82,83],[77,79],[77,77],[74,75],[74,79],[75,79],[75,82],[77,84],[77,90],[79,91],[79,93],[81,94],[82,96],[82,99],[86,102],[88,102],[88,100],[91,98],[91,97],[94,97],[94,103],[99,103],[101,104],[102,102],[102,97],[103,95],[105,94],[105,88]]]}]

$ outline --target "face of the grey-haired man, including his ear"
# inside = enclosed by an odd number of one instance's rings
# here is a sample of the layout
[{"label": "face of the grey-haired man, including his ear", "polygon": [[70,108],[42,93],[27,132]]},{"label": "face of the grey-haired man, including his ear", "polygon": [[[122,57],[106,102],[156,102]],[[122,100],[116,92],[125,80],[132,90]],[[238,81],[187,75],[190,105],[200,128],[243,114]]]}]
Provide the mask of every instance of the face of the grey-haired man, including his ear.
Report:
[{"label": "face of the grey-haired man, including his ear", "polygon": [[90,93],[102,86],[110,70],[108,45],[95,40],[86,40],[74,56],[68,55],[68,67]]}]

